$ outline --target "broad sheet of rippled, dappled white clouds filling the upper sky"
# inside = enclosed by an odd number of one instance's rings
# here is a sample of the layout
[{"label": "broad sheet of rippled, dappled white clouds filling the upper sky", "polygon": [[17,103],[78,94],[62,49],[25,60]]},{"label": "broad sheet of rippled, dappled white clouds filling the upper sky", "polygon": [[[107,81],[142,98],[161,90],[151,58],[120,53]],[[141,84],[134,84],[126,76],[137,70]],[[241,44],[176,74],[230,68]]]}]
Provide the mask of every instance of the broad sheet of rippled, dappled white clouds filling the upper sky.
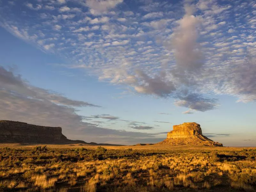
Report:
[{"label": "broad sheet of rippled, dappled white clouds filling the upper sky", "polygon": [[[68,2],[2,1],[0,25],[46,52],[65,54],[69,68],[90,70],[100,81],[172,97],[176,106],[188,108],[186,114],[217,108],[218,100],[208,94],[256,100],[254,1]],[[130,2],[138,9],[127,10]],[[19,17],[12,17],[15,6]],[[244,22],[232,25],[238,20]],[[54,102],[71,102],[56,97]]]}]

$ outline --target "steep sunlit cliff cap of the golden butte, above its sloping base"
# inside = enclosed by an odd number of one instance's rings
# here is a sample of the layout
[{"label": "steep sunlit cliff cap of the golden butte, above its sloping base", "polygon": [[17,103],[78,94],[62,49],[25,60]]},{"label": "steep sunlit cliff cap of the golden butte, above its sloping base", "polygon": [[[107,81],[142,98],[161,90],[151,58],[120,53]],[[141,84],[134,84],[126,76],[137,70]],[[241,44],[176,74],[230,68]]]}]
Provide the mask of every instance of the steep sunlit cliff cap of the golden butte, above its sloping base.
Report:
[{"label": "steep sunlit cliff cap of the golden butte, above its sloping base", "polygon": [[195,122],[173,125],[173,130],[167,133],[167,138],[187,138],[193,135],[202,135],[200,124]]}]

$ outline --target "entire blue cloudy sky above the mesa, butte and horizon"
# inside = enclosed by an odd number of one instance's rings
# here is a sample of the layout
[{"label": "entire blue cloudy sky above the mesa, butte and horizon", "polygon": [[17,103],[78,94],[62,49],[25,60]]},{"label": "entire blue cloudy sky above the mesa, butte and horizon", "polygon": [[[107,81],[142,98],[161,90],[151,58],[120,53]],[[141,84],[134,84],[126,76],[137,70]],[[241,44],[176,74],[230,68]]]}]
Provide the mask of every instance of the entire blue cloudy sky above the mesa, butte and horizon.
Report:
[{"label": "entire blue cloudy sky above the mesa, butte and horizon", "polygon": [[256,146],[254,0],[0,0],[0,118],[156,143],[196,122]]}]

